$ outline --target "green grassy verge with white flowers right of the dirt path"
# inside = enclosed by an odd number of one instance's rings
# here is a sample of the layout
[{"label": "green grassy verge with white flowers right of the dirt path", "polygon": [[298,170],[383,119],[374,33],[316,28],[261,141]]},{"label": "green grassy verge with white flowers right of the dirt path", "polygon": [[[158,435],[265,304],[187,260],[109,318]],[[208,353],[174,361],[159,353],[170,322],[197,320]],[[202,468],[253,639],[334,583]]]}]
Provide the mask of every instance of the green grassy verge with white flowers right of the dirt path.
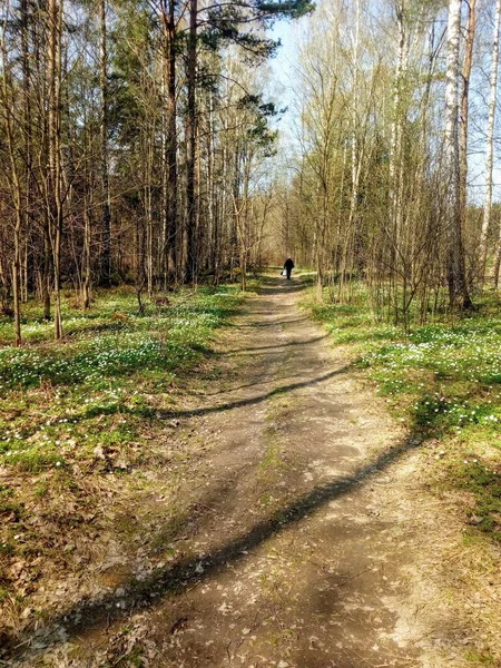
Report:
[{"label": "green grassy verge with white flowers right of the dirt path", "polygon": [[395,416],[434,442],[433,481],[460,498],[469,531],[501,541],[501,314],[492,299],[454,323],[375,323],[361,288],[350,305],[304,305],[348,345]]}]

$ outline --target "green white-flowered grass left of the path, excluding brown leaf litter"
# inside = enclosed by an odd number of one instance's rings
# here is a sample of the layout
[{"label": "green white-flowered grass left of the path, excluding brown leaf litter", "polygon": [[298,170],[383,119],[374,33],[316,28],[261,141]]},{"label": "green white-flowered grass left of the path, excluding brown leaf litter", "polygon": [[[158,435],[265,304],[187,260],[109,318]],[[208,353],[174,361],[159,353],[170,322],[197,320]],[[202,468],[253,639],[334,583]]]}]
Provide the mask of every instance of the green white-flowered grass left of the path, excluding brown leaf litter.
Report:
[{"label": "green white-flowered grass left of the path, excluding brown leaf litter", "polygon": [[[236,286],[203,287],[138,315],[132,293],[104,292],[87,312],[66,304],[60,343],[29,305],[27,345],[0,347],[0,464],[37,473],[96,459],[98,446],[106,455],[140,443],[168,404],[159,397],[210,352],[214,331],[240,299]],[[3,318],[0,340],[12,335]]]}]

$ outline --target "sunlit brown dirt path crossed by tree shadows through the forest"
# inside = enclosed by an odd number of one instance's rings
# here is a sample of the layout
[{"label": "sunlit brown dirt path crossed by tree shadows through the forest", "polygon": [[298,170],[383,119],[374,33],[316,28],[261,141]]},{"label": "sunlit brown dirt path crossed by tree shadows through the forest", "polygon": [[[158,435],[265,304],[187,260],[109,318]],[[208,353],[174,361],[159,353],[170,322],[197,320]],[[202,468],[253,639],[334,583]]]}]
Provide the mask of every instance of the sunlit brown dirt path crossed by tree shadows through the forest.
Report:
[{"label": "sunlit brown dirt path crossed by tree shadows through the forest", "polygon": [[219,377],[166,411],[202,453],[179,483],[186,511],[158,537],[154,570],[136,563],[59,620],[46,665],[460,665],[443,609],[442,659],[430,650],[418,443],[299,311],[299,294],[295,281],[267,279],[225,335]]}]

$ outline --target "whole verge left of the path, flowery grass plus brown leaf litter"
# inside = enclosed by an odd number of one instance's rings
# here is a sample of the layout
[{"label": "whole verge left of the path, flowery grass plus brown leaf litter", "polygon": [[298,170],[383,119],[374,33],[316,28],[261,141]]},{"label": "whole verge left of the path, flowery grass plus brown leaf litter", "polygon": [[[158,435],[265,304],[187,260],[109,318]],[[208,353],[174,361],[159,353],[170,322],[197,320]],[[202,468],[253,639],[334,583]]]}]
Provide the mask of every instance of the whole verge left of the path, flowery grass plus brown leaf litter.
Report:
[{"label": "whole verge left of the path, flowery grass plus brown leaf litter", "polygon": [[[24,310],[22,348],[9,345],[12,324],[0,321],[3,632],[58,608],[48,579],[67,581],[78,598],[88,564],[110,560],[109,541],[99,548],[105,532],[117,544],[139,532],[145,544],[138,518],[154,517],[156,504],[134,508],[134,490],[145,499],[161,492],[174,517],[176,475],[189,456],[183,442],[173,445],[173,413],[183,407],[187,372],[196,367],[194,382],[210,382],[204,358],[242,298],[236,286],[183,291],[144,315],[127,289],[101,293],[87,312],[68,299],[58,343],[33,305]],[[163,477],[161,466],[173,474]],[[1,637],[0,628],[0,645]]]}]

